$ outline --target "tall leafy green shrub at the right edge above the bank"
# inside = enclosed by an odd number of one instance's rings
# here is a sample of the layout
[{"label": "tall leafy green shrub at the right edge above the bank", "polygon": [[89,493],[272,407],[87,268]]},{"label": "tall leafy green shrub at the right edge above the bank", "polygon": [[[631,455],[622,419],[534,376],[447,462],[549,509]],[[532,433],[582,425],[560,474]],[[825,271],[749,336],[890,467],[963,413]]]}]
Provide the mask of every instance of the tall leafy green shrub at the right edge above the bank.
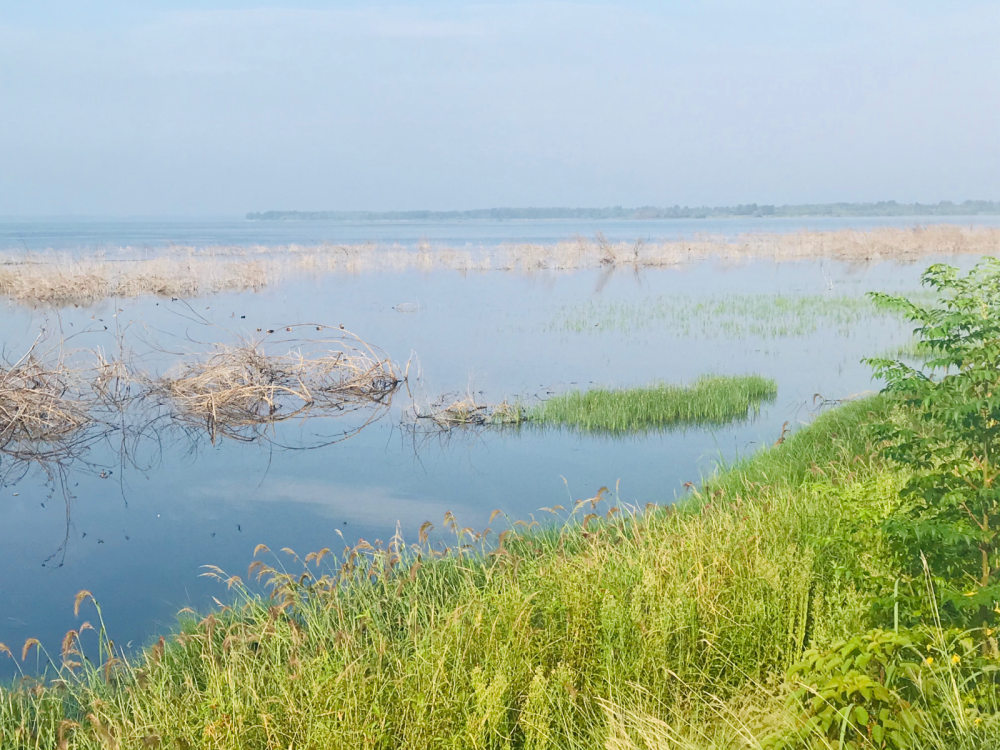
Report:
[{"label": "tall leafy green shrub at the right edge above the bank", "polygon": [[887,530],[911,577],[926,557],[947,619],[985,624],[1000,600],[1000,262],[985,259],[966,275],[934,265],[923,283],[937,304],[872,295],[918,324],[929,356],[922,368],[869,360],[917,416],[882,433],[887,455],[912,472]]}]

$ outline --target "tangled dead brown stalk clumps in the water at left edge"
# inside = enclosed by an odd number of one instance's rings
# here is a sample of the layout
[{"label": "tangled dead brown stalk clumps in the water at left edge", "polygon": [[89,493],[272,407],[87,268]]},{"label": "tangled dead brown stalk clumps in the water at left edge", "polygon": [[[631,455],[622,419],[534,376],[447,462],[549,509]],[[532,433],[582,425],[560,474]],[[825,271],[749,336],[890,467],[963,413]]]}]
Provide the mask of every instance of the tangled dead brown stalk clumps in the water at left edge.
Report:
[{"label": "tangled dead brown stalk clumps in the water at left edge", "polygon": [[[11,466],[51,468],[112,433],[123,450],[124,441],[159,436],[166,427],[207,432],[213,443],[220,436],[252,441],[292,418],[367,409],[363,427],[391,405],[405,374],[383,352],[332,330],[325,339],[291,342],[296,346],[282,354],[272,352],[287,340],[218,344],[163,376],[125,356],[70,352],[65,342],[41,351],[36,341],[0,365],[0,455]],[[353,425],[351,434],[361,427]]]}]

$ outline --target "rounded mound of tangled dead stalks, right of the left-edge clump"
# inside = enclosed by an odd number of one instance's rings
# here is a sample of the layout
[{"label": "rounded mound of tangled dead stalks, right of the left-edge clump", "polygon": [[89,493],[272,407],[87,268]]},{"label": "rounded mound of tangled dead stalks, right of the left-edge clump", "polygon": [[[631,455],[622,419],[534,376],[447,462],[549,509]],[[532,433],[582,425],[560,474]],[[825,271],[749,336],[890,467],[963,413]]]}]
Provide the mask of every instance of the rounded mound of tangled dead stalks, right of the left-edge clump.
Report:
[{"label": "rounded mound of tangled dead stalks, right of the left-edge clump", "polygon": [[346,331],[307,341],[305,350],[269,353],[274,346],[216,345],[164,375],[153,392],[178,419],[205,426],[214,442],[218,435],[255,439],[261,427],[307,414],[388,406],[403,377],[387,355]]}]

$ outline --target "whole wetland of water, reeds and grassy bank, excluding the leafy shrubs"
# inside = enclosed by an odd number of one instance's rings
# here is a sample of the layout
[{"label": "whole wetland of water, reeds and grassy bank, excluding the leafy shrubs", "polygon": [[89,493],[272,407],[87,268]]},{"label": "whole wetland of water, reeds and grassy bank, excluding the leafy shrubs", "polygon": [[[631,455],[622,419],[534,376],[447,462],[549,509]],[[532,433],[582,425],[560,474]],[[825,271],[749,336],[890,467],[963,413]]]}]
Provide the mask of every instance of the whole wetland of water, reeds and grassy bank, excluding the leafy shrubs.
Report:
[{"label": "whole wetland of water, reeds and grassy bank, excluding the leafy shrubs", "polygon": [[[0,264],[0,737],[826,747],[777,683],[902,637],[872,508],[908,422],[863,360],[926,350],[869,293],[940,305],[983,221],[36,228]],[[939,632],[900,653],[965,648]]]}]

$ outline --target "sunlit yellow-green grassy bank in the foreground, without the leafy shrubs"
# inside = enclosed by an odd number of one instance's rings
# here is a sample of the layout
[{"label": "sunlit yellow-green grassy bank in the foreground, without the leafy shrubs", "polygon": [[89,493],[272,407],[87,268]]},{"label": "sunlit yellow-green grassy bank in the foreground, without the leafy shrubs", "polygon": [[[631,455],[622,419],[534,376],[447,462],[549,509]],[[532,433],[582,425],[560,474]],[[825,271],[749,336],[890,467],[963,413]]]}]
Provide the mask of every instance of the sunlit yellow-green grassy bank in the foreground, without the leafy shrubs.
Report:
[{"label": "sunlit yellow-green grassy bank in the foreground, without the leafy shrubs", "polygon": [[[448,550],[426,529],[338,558],[261,550],[271,599],[223,575],[231,607],[136,657],[87,631],[88,662],[70,637],[53,661],[78,666],[0,690],[0,747],[760,747],[798,726],[786,670],[871,627],[892,580],[864,519],[905,480],[871,428],[899,418],[840,407],[674,508],[599,493],[487,541],[449,515]],[[995,725],[955,726],[913,747],[997,746]]]}]

